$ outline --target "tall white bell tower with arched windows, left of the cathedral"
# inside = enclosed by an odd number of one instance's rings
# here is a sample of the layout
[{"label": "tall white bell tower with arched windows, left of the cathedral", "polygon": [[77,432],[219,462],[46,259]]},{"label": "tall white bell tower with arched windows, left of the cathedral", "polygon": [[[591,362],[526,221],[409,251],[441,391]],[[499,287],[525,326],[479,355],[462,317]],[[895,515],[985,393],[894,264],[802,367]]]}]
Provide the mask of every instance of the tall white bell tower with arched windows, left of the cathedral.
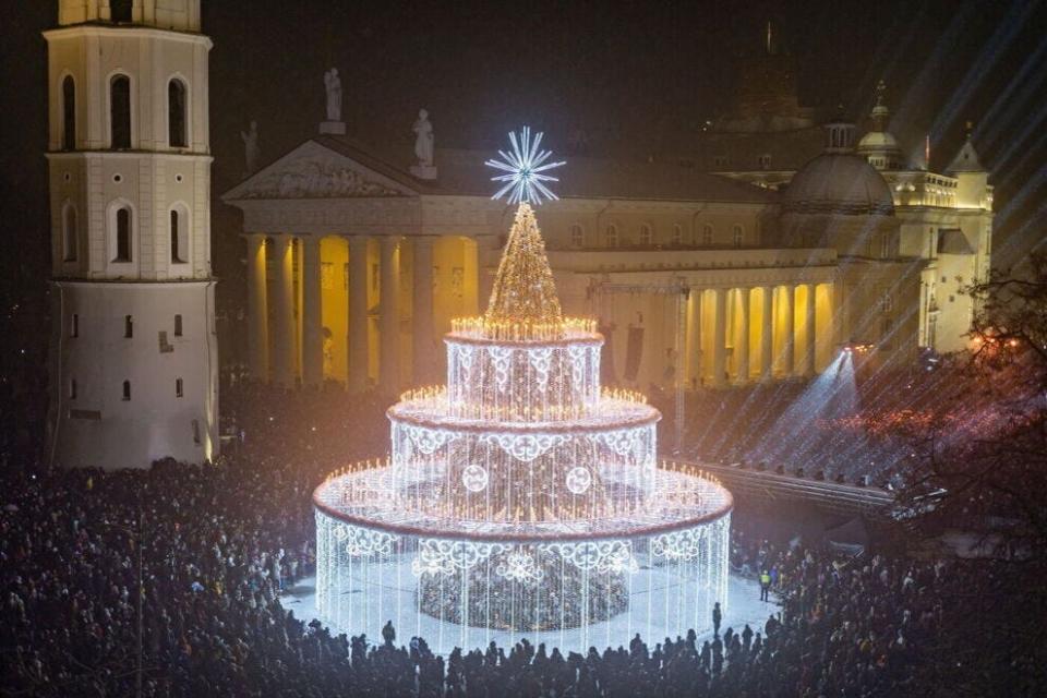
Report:
[{"label": "tall white bell tower with arched windows, left of the cathedral", "polygon": [[50,459],[218,450],[200,0],[59,0],[48,50]]}]

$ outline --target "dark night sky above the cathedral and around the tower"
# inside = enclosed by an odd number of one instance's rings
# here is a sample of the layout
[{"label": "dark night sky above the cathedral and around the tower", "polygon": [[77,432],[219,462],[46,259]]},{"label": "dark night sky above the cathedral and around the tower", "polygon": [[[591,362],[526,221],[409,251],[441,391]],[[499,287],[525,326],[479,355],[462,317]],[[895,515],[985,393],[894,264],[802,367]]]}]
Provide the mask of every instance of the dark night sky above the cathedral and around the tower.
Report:
[{"label": "dark night sky above the cathedral and around the tower", "polygon": [[[46,47],[57,2],[19,2],[0,36],[2,278],[46,275]],[[930,133],[942,169],[964,123],[997,185],[999,256],[1045,237],[1047,8],[1044,2],[348,2],[203,0],[214,39],[210,131],[217,268],[234,263],[236,218],[217,194],[242,170],[239,131],[256,119],[266,159],[315,133],[324,70],[342,73],[351,132],[412,139],[426,107],[441,145],[490,145],[522,123],[581,128],[642,149],[730,100],[737,56],[768,17],[796,57],[802,100],[864,116],[883,77],[892,129]],[[1014,241],[1009,245],[1008,240]],[[228,244],[227,244],[227,243]],[[11,244],[13,243],[13,244]]]}]

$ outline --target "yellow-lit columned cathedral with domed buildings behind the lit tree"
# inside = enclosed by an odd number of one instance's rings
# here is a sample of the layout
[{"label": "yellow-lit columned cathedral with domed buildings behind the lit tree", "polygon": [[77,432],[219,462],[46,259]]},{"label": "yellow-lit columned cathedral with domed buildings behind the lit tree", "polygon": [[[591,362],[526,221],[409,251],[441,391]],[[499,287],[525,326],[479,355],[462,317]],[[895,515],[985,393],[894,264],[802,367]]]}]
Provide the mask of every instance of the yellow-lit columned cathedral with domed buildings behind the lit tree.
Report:
[{"label": "yellow-lit columned cathedral with domed buildings behind the lit tree", "polygon": [[[861,139],[816,124],[769,27],[687,152],[569,157],[538,216],[565,312],[606,338],[604,381],[725,387],[816,375],[843,347],[895,368],[963,349],[992,190],[970,141],[943,173],[908,161],[886,101],[881,86]],[[250,372],[388,395],[438,382],[441,337],[485,305],[510,222],[495,154],[364,143],[327,117],[222,195],[243,212]]]}]

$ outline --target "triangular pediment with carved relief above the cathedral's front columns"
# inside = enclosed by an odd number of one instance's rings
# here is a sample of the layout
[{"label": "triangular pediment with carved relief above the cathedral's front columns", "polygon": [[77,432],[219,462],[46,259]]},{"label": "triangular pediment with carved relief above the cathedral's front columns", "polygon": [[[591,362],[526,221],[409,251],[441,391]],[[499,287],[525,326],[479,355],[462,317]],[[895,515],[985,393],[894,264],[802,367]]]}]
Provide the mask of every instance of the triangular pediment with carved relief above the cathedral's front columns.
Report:
[{"label": "triangular pediment with carved relief above the cathedral's front columns", "polygon": [[418,196],[405,184],[309,141],[222,195],[224,201]]}]

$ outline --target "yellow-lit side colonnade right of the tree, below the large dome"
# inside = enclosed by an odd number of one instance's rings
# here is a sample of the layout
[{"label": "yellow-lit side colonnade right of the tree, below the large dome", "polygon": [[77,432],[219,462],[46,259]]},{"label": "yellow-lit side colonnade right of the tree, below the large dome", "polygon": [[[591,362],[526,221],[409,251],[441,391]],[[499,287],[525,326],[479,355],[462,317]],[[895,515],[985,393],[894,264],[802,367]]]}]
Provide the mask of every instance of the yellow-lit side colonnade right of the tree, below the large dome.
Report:
[{"label": "yellow-lit side colonnade right of the tree, below the large dome", "polygon": [[822,346],[837,344],[833,297],[831,282],[691,288],[685,377],[722,387],[815,375],[819,335]]}]

